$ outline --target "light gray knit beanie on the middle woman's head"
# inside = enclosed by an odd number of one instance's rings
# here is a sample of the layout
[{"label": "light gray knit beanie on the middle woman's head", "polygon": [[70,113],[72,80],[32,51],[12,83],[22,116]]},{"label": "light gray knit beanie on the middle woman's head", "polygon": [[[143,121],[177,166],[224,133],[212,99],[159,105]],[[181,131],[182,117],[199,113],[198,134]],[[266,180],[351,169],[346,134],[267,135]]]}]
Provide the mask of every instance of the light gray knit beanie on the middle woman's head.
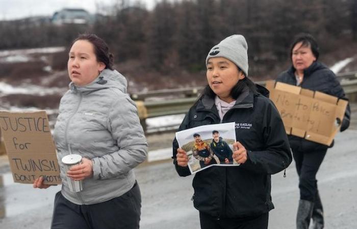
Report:
[{"label": "light gray knit beanie on the middle woman's head", "polygon": [[213,46],[206,58],[223,57],[235,63],[248,76],[248,45],[242,35],[232,35]]}]

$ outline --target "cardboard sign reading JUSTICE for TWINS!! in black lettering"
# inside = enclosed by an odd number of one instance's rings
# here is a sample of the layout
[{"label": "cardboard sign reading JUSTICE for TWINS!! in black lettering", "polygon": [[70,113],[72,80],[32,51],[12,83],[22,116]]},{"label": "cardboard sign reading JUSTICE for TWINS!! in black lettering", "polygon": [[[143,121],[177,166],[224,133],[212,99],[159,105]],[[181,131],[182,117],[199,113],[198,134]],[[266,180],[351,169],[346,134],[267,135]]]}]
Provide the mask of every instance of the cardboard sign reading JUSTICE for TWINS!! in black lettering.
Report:
[{"label": "cardboard sign reading JUSTICE for TWINS!! in black lettering", "polygon": [[0,111],[0,130],[14,182],[32,184],[43,176],[44,184],[61,184],[56,147],[45,111]]}]

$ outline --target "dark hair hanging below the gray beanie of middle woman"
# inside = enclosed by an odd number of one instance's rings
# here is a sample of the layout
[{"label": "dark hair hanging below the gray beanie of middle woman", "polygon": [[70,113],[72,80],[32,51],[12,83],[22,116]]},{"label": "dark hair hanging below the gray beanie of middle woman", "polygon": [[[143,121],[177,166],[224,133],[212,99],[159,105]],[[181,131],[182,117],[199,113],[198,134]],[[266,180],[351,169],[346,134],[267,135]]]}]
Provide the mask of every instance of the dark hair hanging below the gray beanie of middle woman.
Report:
[{"label": "dark hair hanging below the gray beanie of middle woman", "polygon": [[[237,84],[234,85],[234,87],[232,88],[231,91],[232,98],[236,100],[245,87],[248,87],[249,90],[254,94],[258,93],[256,84],[253,81],[251,81],[248,77],[244,77],[243,79],[239,80]],[[206,87],[202,90],[201,96],[199,98],[203,96],[208,96],[214,99],[216,97],[216,94],[210,88],[210,85],[207,84]]]}]

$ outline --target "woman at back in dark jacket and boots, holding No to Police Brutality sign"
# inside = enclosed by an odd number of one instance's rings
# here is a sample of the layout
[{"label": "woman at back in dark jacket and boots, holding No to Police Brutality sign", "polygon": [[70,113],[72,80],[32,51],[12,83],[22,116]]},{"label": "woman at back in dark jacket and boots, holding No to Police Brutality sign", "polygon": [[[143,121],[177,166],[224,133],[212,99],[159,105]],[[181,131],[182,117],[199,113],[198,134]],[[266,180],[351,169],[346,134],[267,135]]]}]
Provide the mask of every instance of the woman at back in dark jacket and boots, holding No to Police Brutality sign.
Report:
[{"label": "woman at back in dark jacket and boots, holding No to Police Brutality sign", "polygon": [[[300,34],[295,38],[291,45],[290,58],[291,68],[281,73],[276,81],[346,99],[336,75],[317,61],[319,47],[310,34]],[[344,119],[336,120],[336,125],[341,125],[341,131],[348,128],[349,117],[350,108],[347,106]],[[313,228],[323,228],[323,208],[317,188],[316,173],[328,147],[297,136],[288,137],[299,175],[300,201],[296,216],[297,228],[309,228],[311,218]]]}]

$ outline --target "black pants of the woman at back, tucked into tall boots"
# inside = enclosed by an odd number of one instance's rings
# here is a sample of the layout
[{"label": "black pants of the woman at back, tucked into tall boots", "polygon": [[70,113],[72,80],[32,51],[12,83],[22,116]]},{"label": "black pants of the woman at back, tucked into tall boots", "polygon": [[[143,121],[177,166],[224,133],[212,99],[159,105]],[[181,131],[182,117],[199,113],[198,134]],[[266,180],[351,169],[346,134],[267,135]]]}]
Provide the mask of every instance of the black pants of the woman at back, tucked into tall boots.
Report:
[{"label": "black pants of the woman at back, tucked into tall boots", "polygon": [[300,199],[315,201],[318,192],[316,174],[326,155],[327,149],[308,151],[300,146],[291,146],[299,175]]}]

